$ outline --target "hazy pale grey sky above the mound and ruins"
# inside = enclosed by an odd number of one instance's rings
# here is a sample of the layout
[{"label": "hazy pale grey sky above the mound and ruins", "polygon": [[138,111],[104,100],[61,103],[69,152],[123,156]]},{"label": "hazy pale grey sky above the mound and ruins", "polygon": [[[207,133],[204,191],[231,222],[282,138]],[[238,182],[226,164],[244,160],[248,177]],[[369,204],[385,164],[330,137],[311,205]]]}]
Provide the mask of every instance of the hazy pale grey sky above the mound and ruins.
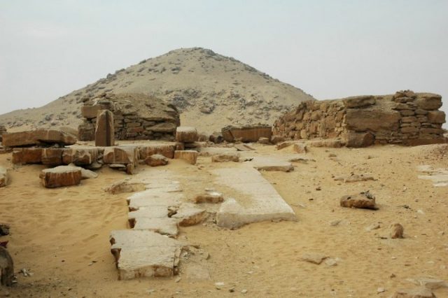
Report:
[{"label": "hazy pale grey sky above the mound and ruins", "polygon": [[195,46],[317,99],[412,89],[448,112],[447,15],[447,0],[1,0],[0,113]]}]

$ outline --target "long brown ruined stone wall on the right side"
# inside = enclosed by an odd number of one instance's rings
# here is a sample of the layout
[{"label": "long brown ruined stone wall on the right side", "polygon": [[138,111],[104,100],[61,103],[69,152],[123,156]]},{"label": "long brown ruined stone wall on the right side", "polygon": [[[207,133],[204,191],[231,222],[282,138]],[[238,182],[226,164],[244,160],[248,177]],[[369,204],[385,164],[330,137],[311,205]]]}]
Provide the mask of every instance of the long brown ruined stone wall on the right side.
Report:
[{"label": "long brown ruined stone wall on the right side", "polygon": [[416,146],[444,143],[442,97],[399,91],[393,95],[305,101],[274,123],[286,139],[341,139],[348,147],[374,143]]}]

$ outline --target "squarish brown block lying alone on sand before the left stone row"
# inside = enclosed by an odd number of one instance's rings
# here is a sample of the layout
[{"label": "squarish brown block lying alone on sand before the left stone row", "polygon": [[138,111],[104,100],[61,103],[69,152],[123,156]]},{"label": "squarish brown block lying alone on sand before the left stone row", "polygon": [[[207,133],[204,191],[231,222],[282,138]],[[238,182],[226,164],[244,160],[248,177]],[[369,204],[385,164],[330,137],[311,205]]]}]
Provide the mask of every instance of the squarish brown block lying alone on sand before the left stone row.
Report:
[{"label": "squarish brown block lying alone on sand before the left stone row", "polygon": [[40,178],[44,187],[64,187],[78,185],[82,174],[79,168],[73,166],[56,166],[42,170]]}]

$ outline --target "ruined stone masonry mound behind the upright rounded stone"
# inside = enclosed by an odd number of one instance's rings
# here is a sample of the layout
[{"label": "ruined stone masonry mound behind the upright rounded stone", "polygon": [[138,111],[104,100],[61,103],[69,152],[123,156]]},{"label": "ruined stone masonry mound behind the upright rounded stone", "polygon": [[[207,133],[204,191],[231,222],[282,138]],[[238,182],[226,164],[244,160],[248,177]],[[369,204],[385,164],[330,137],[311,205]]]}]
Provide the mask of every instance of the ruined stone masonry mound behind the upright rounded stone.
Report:
[{"label": "ruined stone masonry mound behind the upright rounded stone", "polygon": [[80,141],[95,139],[97,117],[102,110],[112,112],[117,140],[174,141],[176,127],[180,125],[176,107],[145,94],[104,93],[85,97],[83,101],[84,122],[78,127]]}]

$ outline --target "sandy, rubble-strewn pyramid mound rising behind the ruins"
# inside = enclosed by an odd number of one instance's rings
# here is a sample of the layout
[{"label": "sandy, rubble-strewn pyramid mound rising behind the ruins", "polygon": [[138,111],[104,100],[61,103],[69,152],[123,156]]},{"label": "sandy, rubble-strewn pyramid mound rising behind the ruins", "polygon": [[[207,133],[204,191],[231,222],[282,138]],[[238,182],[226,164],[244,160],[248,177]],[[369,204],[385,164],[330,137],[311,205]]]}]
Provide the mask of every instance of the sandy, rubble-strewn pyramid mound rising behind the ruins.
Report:
[{"label": "sandy, rubble-strewn pyramid mound rising behind the ruins", "polygon": [[41,108],[0,115],[0,125],[77,127],[82,121],[81,99],[103,92],[139,92],[173,103],[181,124],[214,132],[225,125],[269,124],[313,99],[302,90],[271,78],[232,57],[204,48],[179,49],[109,73],[106,78],[73,91]]}]

